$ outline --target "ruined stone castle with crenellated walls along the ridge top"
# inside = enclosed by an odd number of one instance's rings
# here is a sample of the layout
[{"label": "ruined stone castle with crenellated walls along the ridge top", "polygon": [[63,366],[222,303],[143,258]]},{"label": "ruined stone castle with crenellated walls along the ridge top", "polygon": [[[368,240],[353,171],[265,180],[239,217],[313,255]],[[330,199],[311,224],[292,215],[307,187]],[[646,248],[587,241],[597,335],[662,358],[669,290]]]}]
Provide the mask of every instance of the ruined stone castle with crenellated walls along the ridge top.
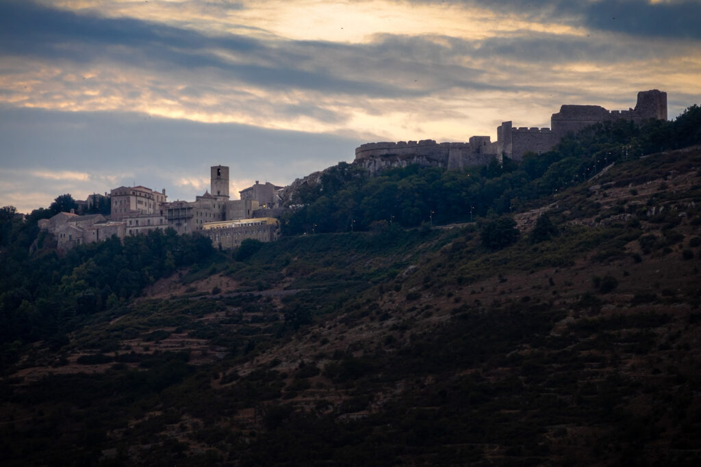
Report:
[{"label": "ruined stone castle with crenellated walls along the ridge top", "polygon": [[514,127],[503,122],[497,129],[497,140],[490,137],[470,137],[466,143],[436,143],[433,139],[399,141],[397,143],[367,143],[355,148],[355,164],[372,174],[386,167],[419,164],[461,169],[487,165],[503,157],[522,160],[526,152],[549,151],[569,133],[576,133],[594,123],[632,120],[641,123],[649,119],[667,120],[667,92],[649,90],[638,92],[634,109],[608,111],[601,106],[563,105],[550,118],[550,128]]}]

